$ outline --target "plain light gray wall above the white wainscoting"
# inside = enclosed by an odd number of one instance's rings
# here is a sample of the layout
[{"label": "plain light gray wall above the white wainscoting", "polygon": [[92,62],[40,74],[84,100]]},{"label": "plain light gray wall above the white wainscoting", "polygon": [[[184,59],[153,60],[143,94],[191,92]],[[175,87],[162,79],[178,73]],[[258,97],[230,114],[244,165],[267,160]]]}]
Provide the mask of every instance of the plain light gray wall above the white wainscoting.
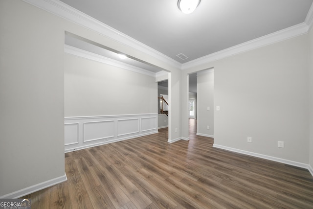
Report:
[{"label": "plain light gray wall above the white wainscoting", "polygon": [[65,116],[157,113],[152,76],[65,54]]}]

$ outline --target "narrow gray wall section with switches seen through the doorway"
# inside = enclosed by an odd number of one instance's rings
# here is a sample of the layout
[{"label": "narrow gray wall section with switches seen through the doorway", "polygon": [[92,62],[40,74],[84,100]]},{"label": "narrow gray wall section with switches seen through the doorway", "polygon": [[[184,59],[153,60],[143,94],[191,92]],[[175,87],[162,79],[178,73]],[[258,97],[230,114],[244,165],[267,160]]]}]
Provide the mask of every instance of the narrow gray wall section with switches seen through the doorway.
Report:
[{"label": "narrow gray wall section with switches seen through the doorway", "polygon": [[[214,71],[197,73],[198,120],[197,134],[214,137]],[[210,110],[207,110],[210,107]],[[209,126],[209,129],[207,129]]]}]

